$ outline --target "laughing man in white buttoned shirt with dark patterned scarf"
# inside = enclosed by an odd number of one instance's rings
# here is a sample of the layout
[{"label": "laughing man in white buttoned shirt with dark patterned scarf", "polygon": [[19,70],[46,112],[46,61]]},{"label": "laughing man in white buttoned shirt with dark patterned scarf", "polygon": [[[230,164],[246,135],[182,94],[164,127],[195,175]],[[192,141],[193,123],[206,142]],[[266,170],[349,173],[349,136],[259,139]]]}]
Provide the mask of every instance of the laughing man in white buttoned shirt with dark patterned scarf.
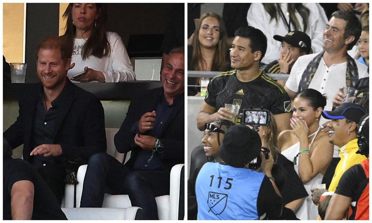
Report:
[{"label": "laughing man in white buttoned shirt with dark patterned scarf", "polygon": [[[300,56],[292,67],[285,90],[293,100],[296,94],[310,87],[326,94],[327,105],[332,109],[332,99],[342,86],[355,87],[358,79],[368,77],[367,67],[347,54],[358,41],[362,28],[356,16],[336,11],[323,33],[320,54]],[[320,124],[326,120],[322,118]]]}]

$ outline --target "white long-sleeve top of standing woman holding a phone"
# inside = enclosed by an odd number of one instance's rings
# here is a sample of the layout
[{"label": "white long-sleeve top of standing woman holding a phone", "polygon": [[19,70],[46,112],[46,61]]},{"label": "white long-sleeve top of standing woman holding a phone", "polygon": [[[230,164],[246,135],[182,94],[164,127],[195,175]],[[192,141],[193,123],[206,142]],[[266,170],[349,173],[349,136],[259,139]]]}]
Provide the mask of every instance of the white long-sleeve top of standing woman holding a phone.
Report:
[{"label": "white long-sleeve top of standing woman holding a phone", "polygon": [[93,70],[102,71],[106,82],[135,80],[133,66],[129,60],[128,53],[123,41],[121,40],[121,37],[115,32],[106,32],[106,37],[110,44],[110,55],[103,56],[102,58],[90,55],[89,58],[84,60],[81,58],[81,48],[83,48],[86,40],[74,39],[74,50],[71,63],[75,63],[75,67],[67,72],[67,77],[69,79],[73,75],[84,71],[84,67],[89,67]]}]

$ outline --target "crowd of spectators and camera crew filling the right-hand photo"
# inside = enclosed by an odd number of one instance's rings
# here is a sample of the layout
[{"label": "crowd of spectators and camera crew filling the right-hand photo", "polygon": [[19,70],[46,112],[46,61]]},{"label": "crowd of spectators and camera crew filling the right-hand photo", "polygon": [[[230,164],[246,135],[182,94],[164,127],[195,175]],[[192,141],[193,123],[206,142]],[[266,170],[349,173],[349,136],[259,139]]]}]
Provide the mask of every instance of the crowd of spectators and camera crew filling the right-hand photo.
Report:
[{"label": "crowd of spectators and camera crew filling the right-hand photo", "polygon": [[188,219],[369,220],[369,4],[188,7],[188,70],[221,72],[189,148]]}]

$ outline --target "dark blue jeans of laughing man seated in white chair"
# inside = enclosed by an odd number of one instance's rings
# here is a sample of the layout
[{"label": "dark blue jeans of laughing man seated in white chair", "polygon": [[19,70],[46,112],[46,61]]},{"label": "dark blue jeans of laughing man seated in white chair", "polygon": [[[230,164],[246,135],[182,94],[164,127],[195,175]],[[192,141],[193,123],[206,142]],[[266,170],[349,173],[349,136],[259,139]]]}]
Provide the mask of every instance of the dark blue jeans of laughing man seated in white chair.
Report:
[{"label": "dark blue jeans of laughing man seated in white chair", "polygon": [[128,194],[144,219],[158,220],[155,197],[169,194],[169,181],[167,171],[131,171],[107,153],[97,153],[88,161],[80,207],[102,207],[105,192]]}]

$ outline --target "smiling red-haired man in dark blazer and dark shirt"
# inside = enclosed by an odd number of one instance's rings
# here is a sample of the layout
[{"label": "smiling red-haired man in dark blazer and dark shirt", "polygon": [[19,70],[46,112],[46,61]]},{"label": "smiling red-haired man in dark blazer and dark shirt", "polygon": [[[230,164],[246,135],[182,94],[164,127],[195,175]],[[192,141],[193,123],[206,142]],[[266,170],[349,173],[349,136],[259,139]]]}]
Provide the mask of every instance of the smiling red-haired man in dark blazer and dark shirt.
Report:
[{"label": "smiling red-haired man in dark blazer and dark shirt", "polygon": [[23,144],[23,159],[38,170],[60,204],[65,181],[77,184],[78,166],[106,152],[102,104],[68,80],[71,53],[62,37],[49,36],[38,44],[41,84],[21,95],[17,121],[3,133],[6,146]]}]

